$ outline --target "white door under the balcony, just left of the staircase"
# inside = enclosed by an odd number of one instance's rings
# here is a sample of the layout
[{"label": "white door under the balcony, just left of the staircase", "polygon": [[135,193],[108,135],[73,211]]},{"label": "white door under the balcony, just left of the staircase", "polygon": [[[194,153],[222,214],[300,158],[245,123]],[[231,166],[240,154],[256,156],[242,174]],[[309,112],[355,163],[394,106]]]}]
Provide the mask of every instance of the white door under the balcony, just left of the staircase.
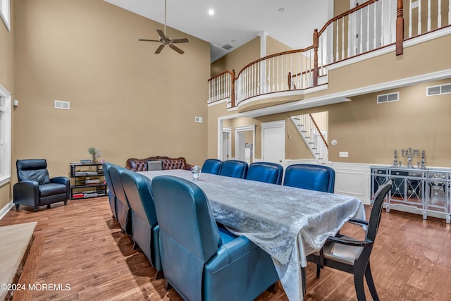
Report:
[{"label": "white door under the balcony, just left of the staircase", "polygon": [[285,160],[285,121],[261,123],[261,159],[283,164]]}]

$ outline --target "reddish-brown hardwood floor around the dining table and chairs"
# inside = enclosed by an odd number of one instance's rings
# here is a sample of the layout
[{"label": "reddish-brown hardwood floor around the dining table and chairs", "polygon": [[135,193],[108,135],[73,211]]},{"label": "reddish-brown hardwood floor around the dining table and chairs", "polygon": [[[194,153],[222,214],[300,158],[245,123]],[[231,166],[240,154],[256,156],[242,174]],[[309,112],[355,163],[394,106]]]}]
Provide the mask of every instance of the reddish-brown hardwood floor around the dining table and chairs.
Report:
[{"label": "reddish-brown hardwood floor around the dining table and chairs", "polygon": [[[366,208],[369,216],[369,207]],[[163,279],[144,254],[111,218],[108,199],[78,199],[51,209],[20,207],[0,220],[0,226],[37,221],[35,244],[19,283],[35,290],[16,292],[13,300],[181,300],[164,290]],[[451,230],[442,219],[383,211],[371,269],[381,300],[451,300]],[[346,225],[342,233],[362,237],[362,229]],[[352,275],[332,269],[315,278],[307,267],[306,300],[356,300]],[[46,284],[61,285],[42,290]],[[68,287],[66,287],[66,284]],[[288,300],[280,283],[257,300]],[[369,290],[366,289],[369,299]]]}]

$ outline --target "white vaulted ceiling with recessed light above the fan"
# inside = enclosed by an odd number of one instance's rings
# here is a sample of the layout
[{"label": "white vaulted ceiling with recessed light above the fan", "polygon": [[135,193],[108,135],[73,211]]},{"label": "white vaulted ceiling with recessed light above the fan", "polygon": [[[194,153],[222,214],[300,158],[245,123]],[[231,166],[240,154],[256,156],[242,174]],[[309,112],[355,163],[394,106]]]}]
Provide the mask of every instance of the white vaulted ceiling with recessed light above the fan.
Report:
[{"label": "white vaulted ceiling with recessed light above the fan", "polygon": [[[164,23],[164,0],[104,1]],[[166,23],[209,42],[211,61],[216,61],[261,34],[292,49],[308,47],[314,29],[320,30],[331,18],[332,3],[333,0],[167,0]],[[214,9],[213,16],[209,16],[209,9]],[[149,37],[142,38],[158,39],[158,34],[149,30]],[[233,48],[223,49],[226,44]]]}]

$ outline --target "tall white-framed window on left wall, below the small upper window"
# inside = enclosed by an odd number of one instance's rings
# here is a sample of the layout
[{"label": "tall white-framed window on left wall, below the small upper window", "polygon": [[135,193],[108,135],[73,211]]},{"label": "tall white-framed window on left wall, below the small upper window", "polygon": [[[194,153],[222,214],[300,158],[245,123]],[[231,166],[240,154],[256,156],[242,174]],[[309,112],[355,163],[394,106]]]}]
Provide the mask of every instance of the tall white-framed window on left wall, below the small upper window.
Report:
[{"label": "tall white-framed window on left wall, below the small upper window", "polygon": [[0,85],[0,186],[11,180],[11,93]]}]

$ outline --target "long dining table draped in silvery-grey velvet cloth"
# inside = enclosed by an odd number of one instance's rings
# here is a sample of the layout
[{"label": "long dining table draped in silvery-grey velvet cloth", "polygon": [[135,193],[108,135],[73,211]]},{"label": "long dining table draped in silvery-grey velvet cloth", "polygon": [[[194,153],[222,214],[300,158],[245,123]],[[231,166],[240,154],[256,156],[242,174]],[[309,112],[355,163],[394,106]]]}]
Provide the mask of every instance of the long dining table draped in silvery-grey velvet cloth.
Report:
[{"label": "long dining table draped in silvery-grey velvet cloth", "polygon": [[201,188],[218,223],[235,235],[245,235],[273,259],[289,300],[304,299],[307,255],[318,252],[330,235],[351,218],[365,219],[356,197],[318,192],[180,169],[141,171],[150,180],[176,176]]}]

